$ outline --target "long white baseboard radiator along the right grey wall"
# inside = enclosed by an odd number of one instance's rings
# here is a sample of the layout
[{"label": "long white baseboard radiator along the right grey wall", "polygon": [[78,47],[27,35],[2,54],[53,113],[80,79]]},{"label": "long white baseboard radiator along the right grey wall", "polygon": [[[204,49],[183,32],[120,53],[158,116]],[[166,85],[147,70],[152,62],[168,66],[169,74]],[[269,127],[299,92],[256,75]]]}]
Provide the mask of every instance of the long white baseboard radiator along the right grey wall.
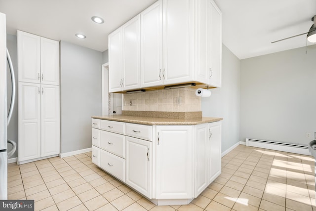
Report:
[{"label": "long white baseboard radiator along the right grey wall", "polygon": [[308,146],[290,143],[281,143],[275,141],[266,141],[259,139],[246,138],[246,146],[259,147],[283,152],[297,153],[303,155],[311,155]]}]

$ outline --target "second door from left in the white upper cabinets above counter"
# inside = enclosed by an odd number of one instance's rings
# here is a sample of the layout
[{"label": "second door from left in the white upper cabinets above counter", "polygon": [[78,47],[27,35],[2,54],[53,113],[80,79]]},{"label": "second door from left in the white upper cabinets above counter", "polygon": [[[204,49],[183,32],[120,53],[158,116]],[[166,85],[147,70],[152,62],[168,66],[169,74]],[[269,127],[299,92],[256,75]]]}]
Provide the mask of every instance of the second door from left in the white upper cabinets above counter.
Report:
[{"label": "second door from left in the white upper cabinets above counter", "polygon": [[122,26],[123,90],[140,88],[140,15]]}]

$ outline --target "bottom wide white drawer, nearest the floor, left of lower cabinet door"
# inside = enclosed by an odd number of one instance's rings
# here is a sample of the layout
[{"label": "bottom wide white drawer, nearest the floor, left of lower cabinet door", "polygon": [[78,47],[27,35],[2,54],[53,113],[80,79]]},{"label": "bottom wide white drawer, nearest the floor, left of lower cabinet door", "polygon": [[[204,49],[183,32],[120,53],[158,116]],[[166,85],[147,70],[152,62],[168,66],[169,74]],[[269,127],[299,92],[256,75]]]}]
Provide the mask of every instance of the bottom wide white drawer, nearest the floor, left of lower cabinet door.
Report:
[{"label": "bottom wide white drawer, nearest the floor, left of lower cabinet door", "polygon": [[125,159],[101,149],[100,167],[125,182]]}]

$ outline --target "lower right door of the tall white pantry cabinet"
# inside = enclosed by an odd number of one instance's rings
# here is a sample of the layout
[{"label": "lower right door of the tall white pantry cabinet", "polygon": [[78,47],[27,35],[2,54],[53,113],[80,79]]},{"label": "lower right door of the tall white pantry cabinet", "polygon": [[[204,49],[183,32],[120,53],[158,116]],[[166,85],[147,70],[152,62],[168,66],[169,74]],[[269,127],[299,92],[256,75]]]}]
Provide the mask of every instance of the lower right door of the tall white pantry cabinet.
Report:
[{"label": "lower right door of the tall white pantry cabinet", "polygon": [[41,85],[41,157],[60,152],[59,86]]}]

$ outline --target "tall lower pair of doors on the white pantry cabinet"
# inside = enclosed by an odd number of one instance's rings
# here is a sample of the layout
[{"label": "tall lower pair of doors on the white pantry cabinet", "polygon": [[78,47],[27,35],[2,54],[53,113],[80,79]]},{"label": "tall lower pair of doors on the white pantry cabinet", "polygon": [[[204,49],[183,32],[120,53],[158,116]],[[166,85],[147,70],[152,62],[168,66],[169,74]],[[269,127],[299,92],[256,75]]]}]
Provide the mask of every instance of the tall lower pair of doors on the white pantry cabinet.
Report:
[{"label": "tall lower pair of doors on the white pantry cabinet", "polygon": [[18,102],[18,163],[59,154],[59,86],[19,83]]}]

